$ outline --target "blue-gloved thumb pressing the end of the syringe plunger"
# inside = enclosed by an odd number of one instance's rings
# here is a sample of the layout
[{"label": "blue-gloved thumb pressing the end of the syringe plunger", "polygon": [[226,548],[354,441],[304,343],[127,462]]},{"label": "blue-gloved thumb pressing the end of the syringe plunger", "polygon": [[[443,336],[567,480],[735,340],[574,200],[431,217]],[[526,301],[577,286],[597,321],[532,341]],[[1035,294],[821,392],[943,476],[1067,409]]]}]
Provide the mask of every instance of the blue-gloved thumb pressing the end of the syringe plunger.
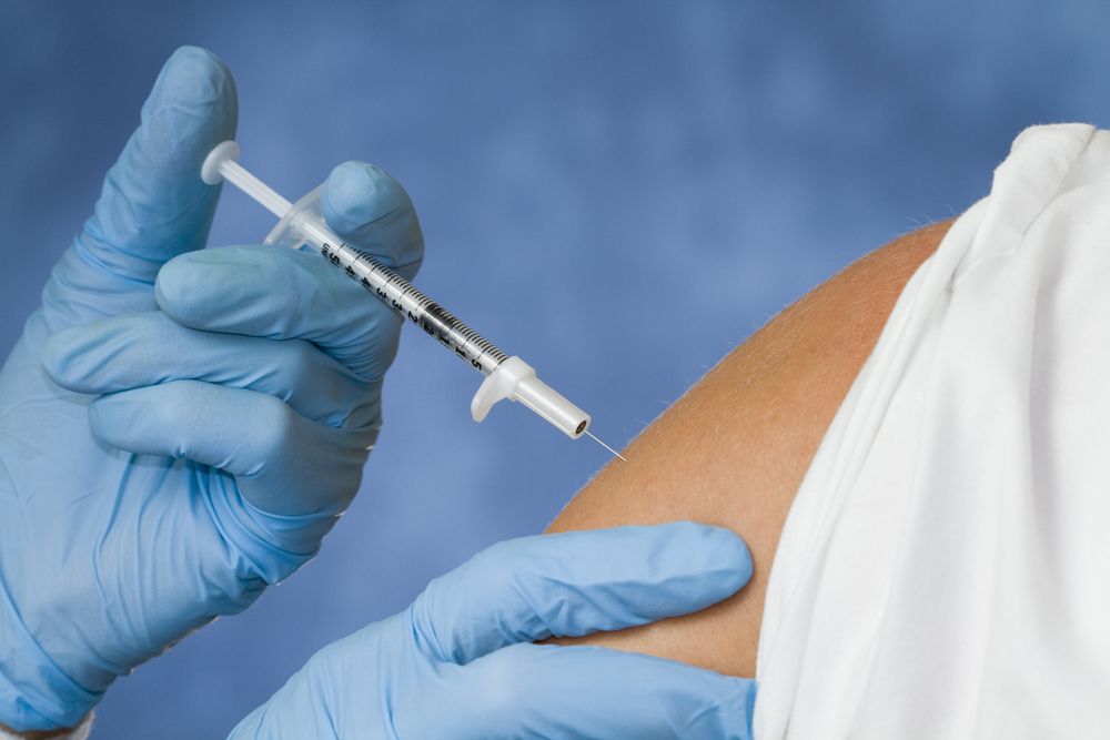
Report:
[{"label": "blue-gloved thumb pressing the end of the syringe plunger", "polygon": [[204,246],[219,190],[201,181],[200,166],[234,136],[238,111],[231,73],[214,54],[175,51],[74,249],[125,281],[152,284],[167,260]]}]

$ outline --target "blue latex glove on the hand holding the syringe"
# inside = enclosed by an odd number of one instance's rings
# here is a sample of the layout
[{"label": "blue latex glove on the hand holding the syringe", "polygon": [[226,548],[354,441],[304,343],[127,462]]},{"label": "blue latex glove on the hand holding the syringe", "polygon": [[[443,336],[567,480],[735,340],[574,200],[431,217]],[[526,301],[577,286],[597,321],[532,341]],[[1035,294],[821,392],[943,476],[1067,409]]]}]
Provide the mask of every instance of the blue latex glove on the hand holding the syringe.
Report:
[{"label": "blue latex glove on the hand holding the syringe", "polygon": [[[112,680],[289,576],[359,487],[401,320],[315,254],[201,250],[234,83],[179,50],[0,372],[0,723]],[[329,178],[335,231],[411,277],[397,183]],[[157,284],[155,284],[157,277]],[[101,395],[107,394],[107,395]]]}]

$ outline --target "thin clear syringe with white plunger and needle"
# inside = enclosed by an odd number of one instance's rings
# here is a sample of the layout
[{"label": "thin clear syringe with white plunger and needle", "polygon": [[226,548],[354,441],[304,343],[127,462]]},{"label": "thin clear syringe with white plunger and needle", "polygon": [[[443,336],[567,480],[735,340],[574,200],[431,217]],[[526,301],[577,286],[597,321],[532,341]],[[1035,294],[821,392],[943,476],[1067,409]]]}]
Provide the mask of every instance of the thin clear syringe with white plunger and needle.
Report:
[{"label": "thin clear syringe with white plunger and needle", "polygon": [[281,220],[264,243],[293,249],[311,245],[367,292],[485,375],[471,401],[471,416],[475,422],[484,419],[490,408],[503,398],[519,401],[572,439],[586,434],[620,457],[589,433],[589,414],[541,381],[532,366],[519,357],[509,357],[393,270],[336,236],[320,211],[322,185],[291,204],[243,169],[238,159],[239,144],[234,141],[216,145],[201,166],[201,179],[210,185],[226,180]]}]

